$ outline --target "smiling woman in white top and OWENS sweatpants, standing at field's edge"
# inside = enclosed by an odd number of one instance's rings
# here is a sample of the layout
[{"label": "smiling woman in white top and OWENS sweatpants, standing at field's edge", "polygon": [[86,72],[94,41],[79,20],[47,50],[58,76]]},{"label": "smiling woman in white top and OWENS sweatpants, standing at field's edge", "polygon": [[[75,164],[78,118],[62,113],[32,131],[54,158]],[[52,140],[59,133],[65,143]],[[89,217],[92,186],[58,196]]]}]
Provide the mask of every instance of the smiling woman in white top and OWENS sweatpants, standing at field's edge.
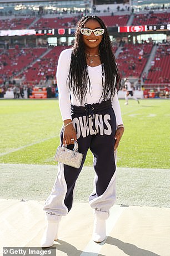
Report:
[{"label": "smiling woman in white top and OWENS sweatpants, standing at field's edge", "polygon": [[88,148],[93,153],[96,172],[94,191],[89,196],[94,209],[93,240],[101,242],[106,239],[106,219],[116,200],[114,152],[124,132],[117,97],[121,80],[101,18],[86,16],[79,21],[73,49],[64,50],[59,56],[57,83],[63,119],[61,144],[73,149],[77,141],[84,157],[79,169],[58,165],[54,187],[44,205],[47,228],[41,246],[53,245],[59,221],[71,210],[74,185]]}]

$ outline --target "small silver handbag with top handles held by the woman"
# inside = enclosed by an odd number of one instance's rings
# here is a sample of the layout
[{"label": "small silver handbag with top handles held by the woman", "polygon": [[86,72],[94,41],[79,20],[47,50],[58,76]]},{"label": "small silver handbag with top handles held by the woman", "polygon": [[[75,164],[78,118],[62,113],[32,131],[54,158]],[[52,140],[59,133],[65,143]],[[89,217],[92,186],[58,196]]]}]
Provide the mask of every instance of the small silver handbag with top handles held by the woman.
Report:
[{"label": "small silver handbag with top handles held by the woman", "polygon": [[73,151],[66,146],[58,146],[54,160],[59,163],[64,163],[64,165],[69,165],[74,168],[79,168],[81,166],[83,159],[83,154],[78,152],[78,143],[74,141]]}]

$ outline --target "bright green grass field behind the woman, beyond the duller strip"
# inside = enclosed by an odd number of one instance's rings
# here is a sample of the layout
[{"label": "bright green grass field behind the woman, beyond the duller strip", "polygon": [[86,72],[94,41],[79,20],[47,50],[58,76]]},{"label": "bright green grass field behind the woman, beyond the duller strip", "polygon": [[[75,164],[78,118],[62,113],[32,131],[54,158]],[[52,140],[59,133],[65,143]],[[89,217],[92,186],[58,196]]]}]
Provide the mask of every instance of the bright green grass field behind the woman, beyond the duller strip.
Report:
[{"label": "bright green grass field behind the woman, beyond the duller strip", "polygon": [[[170,102],[120,100],[125,132],[118,148],[119,167],[169,168]],[[0,163],[56,165],[62,119],[57,100],[0,100]],[[88,153],[85,165],[92,165]]]}]

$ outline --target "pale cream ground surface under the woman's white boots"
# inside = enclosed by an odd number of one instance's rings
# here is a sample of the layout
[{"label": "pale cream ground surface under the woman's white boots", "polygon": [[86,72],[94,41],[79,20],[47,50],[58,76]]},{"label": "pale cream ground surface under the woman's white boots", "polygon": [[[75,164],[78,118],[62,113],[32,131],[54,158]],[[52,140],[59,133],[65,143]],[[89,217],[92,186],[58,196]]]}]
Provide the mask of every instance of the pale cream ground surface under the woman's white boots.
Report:
[{"label": "pale cream ground surface under the woman's white boots", "polygon": [[[2,247],[39,247],[46,226],[44,201],[0,199],[0,250]],[[61,221],[57,256],[169,256],[170,209],[114,205],[107,220],[107,239],[91,240],[93,211],[76,202]],[[2,254],[1,254],[2,255]]]}]

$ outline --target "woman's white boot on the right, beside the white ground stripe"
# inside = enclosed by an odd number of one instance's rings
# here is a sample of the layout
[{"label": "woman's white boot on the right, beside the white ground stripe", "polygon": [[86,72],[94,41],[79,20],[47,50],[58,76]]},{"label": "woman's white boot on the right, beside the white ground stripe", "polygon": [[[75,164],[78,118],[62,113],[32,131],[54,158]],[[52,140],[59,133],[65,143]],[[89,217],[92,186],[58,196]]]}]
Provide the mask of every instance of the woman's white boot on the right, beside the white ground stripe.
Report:
[{"label": "woman's white boot on the right, beside the white ground stripe", "polygon": [[94,226],[93,226],[93,241],[100,243],[106,239],[106,220],[109,212],[97,211],[94,212]]}]

